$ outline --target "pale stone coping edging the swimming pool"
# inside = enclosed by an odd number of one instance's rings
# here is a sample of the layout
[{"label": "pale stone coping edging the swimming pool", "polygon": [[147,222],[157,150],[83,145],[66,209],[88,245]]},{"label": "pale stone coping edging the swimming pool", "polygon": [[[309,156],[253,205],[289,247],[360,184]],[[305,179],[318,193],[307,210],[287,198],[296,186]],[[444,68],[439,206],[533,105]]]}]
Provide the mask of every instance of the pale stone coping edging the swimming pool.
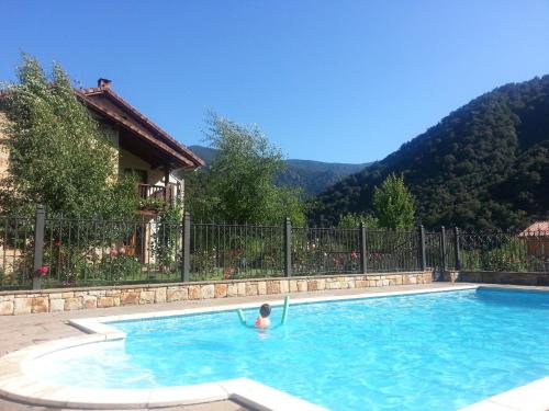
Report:
[{"label": "pale stone coping edging the swimming pool", "polygon": [[[440,287],[430,289],[399,290],[386,293],[363,293],[346,296],[323,296],[293,298],[292,304],[314,304],[321,301],[354,300],[365,298],[381,298],[402,295],[433,294],[445,292],[457,292],[477,288],[514,288],[497,287],[493,285],[462,285],[452,287]],[[524,287],[523,287],[524,289]],[[267,300],[273,306],[283,304],[282,299]],[[0,396],[11,400],[22,401],[36,406],[81,408],[81,409],[135,409],[156,408],[171,406],[188,406],[208,403],[220,400],[235,400],[243,406],[255,410],[311,410],[321,411],[324,408],[291,396],[281,390],[248,378],[235,378],[224,381],[205,383],[198,385],[161,387],[150,389],[92,389],[81,387],[68,387],[48,385],[35,380],[32,374],[33,359],[43,355],[90,343],[101,341],[122,340],[126,335],[105,322],[154,319],[165,317],[188,316],[193,313],[223,312],[238,308],[257,308],[257,302],[235,304],[219,307],[190,308],[169,311],[156,311],[145,313],[131,313],[121,316],[103,316],[88,319],[70,320],[69,323],[89,333],[57,341],[45,342],[40,345],[30,346],[0,358]],[[526,386],[502,392],[490,397],[478,403],[463,408],[467,411],[480,410],[517,410],[517,403],[531,402],[534,398],[538,408],[549,408],[549,398],[542,398],[542,391],[549,392],[549,377],[538,379]],[[536,393],[538,395],[536,397]],[[539,397],[539,398],[538,398]],[[517,402],[520,401],[520,402]],[[544,407],[544,408],[541,408]],[[519,408],[524,410],[525,408]]]}]

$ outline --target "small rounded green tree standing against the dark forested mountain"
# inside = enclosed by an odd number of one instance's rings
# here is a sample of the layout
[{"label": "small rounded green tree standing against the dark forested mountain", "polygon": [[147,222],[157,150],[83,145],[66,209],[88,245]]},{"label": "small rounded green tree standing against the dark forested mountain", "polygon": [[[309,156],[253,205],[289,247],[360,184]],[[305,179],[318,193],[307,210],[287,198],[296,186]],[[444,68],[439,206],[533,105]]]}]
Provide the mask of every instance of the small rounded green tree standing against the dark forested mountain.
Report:
[{"label": "small rounded green tree standing against the dark forested mountain", "polygon": [[410,229],[414,225],[414,198],[402,175],[389,174],[381,187],[373,190],[373,208],[381,227]]}]

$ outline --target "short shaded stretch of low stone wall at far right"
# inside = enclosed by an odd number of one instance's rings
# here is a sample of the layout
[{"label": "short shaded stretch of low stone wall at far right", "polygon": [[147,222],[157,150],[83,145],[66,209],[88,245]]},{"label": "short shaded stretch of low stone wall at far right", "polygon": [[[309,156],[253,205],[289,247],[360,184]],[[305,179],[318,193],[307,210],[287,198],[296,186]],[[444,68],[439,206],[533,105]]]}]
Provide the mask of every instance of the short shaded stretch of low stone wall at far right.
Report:
[{"label": "short shaded stretch of low stone wall at far right", "polygon": [[445,273],[445,281],[460,283],[549,285],[549,273],[515,273],[494,271],[461,271]]}]

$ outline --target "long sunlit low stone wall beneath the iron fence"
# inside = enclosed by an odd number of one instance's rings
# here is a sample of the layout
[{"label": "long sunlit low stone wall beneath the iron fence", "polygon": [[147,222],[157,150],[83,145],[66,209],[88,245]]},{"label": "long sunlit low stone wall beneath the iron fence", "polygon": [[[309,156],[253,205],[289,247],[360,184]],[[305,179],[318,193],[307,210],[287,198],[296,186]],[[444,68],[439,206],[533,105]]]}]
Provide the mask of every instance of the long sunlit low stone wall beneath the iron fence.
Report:
[{"label": "long sunlit low stone wall beneath the iron fence", "polygon": [[0,316],[432,282],[429,271],[0,292]]}]

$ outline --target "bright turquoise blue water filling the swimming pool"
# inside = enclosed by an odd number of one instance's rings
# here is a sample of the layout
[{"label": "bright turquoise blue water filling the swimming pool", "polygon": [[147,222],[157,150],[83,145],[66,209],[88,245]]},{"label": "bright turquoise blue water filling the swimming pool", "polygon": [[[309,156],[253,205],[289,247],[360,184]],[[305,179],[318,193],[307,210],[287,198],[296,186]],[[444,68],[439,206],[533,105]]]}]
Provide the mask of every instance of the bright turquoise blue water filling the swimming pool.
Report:
[{"label": "bright turquoise blue water filling the swimming pool", "polygon": [[[48,381],[148,388],[248,377],[332,410],[452,410],[549,375],[549,294],[496,289],[113,323],[125,341],[38,361]],[[246,312],[253,321],[257,310]],[[281,308],[273,308],[277,323]]]}]

